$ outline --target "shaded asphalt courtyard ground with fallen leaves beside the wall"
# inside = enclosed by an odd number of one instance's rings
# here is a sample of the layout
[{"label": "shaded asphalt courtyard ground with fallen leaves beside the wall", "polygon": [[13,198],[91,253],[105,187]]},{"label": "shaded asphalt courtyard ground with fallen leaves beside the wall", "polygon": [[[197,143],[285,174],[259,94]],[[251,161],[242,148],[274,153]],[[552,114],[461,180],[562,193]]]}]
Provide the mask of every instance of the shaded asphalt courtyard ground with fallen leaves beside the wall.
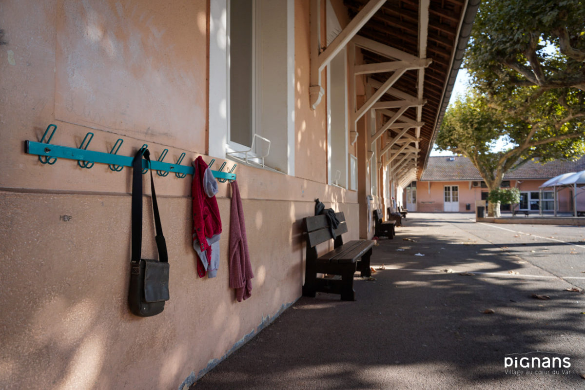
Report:
[{"label": "shaded asphalt courtyard ground with fallen leaves beside the wall", "polygon": [[585,229],[472,218],[409,213],[357,301],[299,299],[191,389],[585,388],[585,295],[566,291]]}]

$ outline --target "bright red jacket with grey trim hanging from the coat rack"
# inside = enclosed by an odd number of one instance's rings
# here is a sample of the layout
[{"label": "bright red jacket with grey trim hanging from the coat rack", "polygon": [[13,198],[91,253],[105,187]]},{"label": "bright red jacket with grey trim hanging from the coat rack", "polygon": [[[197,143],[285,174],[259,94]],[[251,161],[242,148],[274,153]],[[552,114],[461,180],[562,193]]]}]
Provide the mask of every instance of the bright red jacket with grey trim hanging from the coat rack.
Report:
[{"label": "bright red jacket with grey trim hanging from the coat rack", "polygon": [[[197,157],[193,163],[195,171],[193,172],[193,182],[191,185],[191,196],[193,198],[193,229],[192,238],[197,237],[197,241],[201,251],[207,252],[208,262],[211,261],[211,245],[208,244],[207,239],[221,234],[221,218],[219,216],[218,202],[215,196],[209,198],[205,194],[203,185],[203,178],[207,164],[201,156]],[[199,278],[205,276],[207,269],[201,263],[201,258],[197,260],[197,274]]]}]

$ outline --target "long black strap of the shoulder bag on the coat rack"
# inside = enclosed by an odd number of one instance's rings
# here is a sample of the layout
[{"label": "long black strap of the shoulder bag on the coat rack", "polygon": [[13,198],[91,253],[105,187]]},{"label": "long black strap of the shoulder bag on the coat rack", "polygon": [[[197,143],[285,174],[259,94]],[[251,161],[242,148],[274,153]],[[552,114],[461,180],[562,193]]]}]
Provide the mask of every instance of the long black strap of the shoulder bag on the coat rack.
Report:
[{"label": "long black strap of the shoulder bag on the coat rack", "polygon": [[150,190],[152,192],[152,207],[154,212],[154,226],[156,229],[156,247],[159,250],[159,261],[168,262],[167,244],[163,236],[163,227],[160,223],[159,205],[156,202],[154,178],[150,169],[150,152],[140,149],[132,161],[132,261],[142,258],[142,156],[148,161],[150,171]]}]

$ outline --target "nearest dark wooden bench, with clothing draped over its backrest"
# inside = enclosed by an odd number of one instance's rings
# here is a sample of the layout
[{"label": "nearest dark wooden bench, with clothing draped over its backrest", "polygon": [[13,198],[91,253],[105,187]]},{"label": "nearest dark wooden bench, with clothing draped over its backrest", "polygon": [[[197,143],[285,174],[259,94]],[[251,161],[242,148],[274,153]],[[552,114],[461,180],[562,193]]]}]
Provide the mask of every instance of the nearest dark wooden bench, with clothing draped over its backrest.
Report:
[{"label": "nearest dark wooden bench, with clothing draped over its backrest", "polygon": [[[344,244],[341,235],[347,232],[345,216],[343,213],[335,213],[335,216],[340,223],[335,230],[334,249],[322,256],[318,256],[315,246],[333,239],[325,215],[303,219],[307,262],[302,295],[314,297],[317,291],[330,292],[341,294],[342,301],[355,301],[353,274],[357,270],[363,277],[371,275],[370,256],[374,241],[354,240]],[[317,273],[340,275],[341,280],[318,278]]]}]

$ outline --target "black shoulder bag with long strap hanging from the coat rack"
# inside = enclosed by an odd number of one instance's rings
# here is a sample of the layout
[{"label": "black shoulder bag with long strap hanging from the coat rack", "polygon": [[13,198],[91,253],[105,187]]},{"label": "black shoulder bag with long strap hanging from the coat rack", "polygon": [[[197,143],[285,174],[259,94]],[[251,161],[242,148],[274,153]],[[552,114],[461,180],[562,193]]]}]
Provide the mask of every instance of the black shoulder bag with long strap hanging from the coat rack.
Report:
[{"label": "black shoulder bag with long strap hanging from the coat rack", "polygon": [[[142,255],[142,156],[146,158],[150,171],[154,226],[156,226],[156,247],[159,260],[146,260]],[[156,203],[154,180],[150,169],[148,149],[140,149],[132,162],[132,260],[130,261],[130,311],[140,317],[149,317],[164,310],[168,301],[168,255],[160,225],[159,206]]]}]

